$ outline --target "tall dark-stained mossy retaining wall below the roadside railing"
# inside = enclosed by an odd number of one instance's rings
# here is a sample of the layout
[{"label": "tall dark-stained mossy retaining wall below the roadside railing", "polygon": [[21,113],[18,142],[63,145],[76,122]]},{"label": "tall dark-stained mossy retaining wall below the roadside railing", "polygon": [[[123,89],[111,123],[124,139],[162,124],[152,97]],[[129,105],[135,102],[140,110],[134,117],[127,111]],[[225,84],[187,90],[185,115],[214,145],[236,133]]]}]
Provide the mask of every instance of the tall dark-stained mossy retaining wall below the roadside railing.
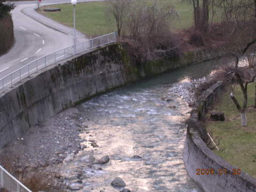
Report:
[{"label": "tall dark-stained mossy retaining wall below the roadside railing", "polygon": [[192,52],[169,61],[136,63],[121,44],[113,44],[32,74],[0,95],[0,149],[30,126],[94,95],[213,57]]}]

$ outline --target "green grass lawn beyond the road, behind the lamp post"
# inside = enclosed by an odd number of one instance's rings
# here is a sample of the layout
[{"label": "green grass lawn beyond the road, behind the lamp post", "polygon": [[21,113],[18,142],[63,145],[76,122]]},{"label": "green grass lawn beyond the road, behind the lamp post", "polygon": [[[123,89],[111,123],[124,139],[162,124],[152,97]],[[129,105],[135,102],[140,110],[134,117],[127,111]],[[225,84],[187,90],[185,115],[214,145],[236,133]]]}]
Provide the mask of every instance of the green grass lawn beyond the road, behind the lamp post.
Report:
[{"label": "green grass lawn beyond the road, behind the lamp post", "polygon": [[[193,7],[191,4],[182,3],[181,0],[159,0],[165,5],[171,3],[179,13],[179,19],[173,21],[173,28],[184,29],[193,25]],[[90,36],[111,33],[116,30],[114,19],[106,15],[108,2],[87,2],[76,5],[76,28]],[[38,12],[52,18],[64,25],[73,27],[73,5],[60,4],[47,7],[58,7],[61,12],[43,12],[41,7]]]}]

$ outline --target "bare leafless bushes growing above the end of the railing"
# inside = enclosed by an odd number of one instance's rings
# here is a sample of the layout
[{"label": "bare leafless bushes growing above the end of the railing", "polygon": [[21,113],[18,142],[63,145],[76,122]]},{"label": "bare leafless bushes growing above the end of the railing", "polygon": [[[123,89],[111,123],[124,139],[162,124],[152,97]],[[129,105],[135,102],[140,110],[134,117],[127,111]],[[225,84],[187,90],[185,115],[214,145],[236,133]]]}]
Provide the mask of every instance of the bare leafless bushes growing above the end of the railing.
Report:
[{"label": "bare leafless bushes growing above the end of the railing", "polygon": [[170,23],[178,17],[172,5],[157,1],[119,0],[110,3],[108,13],[115,19],[119,36],[130,39],[142,59],[178,50],[178,39]]}]

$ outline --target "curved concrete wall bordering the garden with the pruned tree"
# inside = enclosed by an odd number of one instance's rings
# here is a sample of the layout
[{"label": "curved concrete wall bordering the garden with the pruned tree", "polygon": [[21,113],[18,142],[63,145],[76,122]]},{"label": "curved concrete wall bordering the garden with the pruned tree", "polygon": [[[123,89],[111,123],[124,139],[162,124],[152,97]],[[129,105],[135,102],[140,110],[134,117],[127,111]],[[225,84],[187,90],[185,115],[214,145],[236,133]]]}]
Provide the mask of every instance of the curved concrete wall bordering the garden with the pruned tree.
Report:
[{"label": "curved concrete wall bordering the garden with the pruned tree", "polygon": [[[202,117],[207,107],[214,100],[215,95],[220,92],[221,86],[222,82],[218,82],[201,95],[200,101],[196,103],[195,109],[191,112],[191,122],[195,122]],[[241,172],[241,175],[233,175],[232,169],[237,167],[230,165],[207,147],[201,138],[203,134],[201,130],[203,130],[203,127],[198,124],[188,125],[183,151],[186,170],[197,186],[206,192],[256,191],[256,179],[244,172]],[[197,169],[213,169],[214,174],[197,175]],[[227,174],[220,175],[220,169],[226,169]]]}]

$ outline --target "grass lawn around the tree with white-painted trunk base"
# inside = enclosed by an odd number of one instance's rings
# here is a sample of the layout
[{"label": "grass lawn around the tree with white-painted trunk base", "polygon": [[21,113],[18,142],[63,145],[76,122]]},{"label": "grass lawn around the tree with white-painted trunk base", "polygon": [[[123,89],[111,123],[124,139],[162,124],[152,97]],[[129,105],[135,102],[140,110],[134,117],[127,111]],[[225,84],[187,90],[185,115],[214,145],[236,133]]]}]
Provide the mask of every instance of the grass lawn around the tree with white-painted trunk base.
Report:
[{"label": "grass lawn around the tree with white-painted trunk base", "polygon": [[[220,148],[214,148],[214,153],[230,164],[239,167],[242,171],[256,178],[256,109],[254,105],[255,84],[248,87],[247,127],[241,126],[240,115],[230,99],[230,91],[224,93],[221,102],[215,105],[214,110],[225,113],[225,122],[209,121],[206,129],[213,134],[213,140]],[[239,86],[235,87],[235,95],[240,103],[243,102]],[[210,114],[210,113],[209,113]],[[218,140],[220,142],[218,143]]]}]

